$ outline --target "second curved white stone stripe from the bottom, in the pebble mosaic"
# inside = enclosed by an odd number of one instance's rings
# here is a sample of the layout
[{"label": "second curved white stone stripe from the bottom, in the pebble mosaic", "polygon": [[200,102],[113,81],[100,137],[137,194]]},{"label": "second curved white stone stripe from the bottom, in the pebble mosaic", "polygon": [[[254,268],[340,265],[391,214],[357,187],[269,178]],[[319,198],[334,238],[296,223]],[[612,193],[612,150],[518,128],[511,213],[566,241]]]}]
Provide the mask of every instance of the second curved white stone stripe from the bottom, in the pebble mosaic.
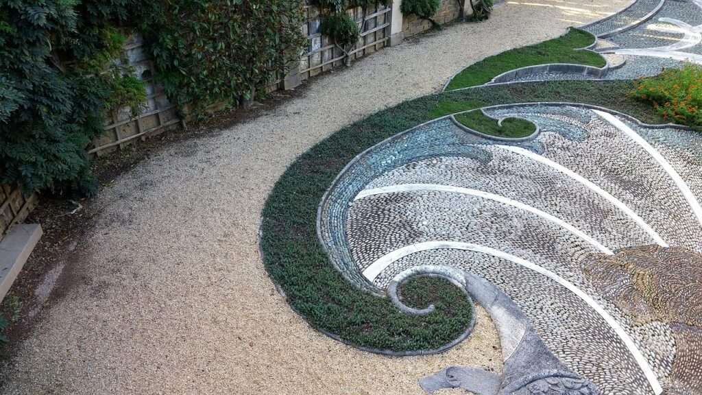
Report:
[{"label": "second curved white stone stripe from the bottom, in the pebble mosaic", "polygon": [[393,186],[384,186],[381,188],[362,190],[361,193],[359,193],[356,196],[355,200],[363,199],[364,197],[368,197],[371,195],[380,195],[383,193],[409,192],[409,191],[414,191],[414,190],[432,190],[432,191],[438,191],[438,192],[461,193],[463,195],[471,195],[471,196],[476,196],[476,197],[482,197],[483,199],[494,200],[495,202],[500,202],[500,203],[503,203],[504,205],[512,206],[512,207],[515,207],[517,209],[522,209],[526,212],[530,212],[532,214],[536,214],[537,216],[541,216],[541,218],[543,218],[547,221],[551,221],[552,223],[560,226],[561,228],[564,228],[565,230],[569,231],[570,233],[573,233],[574,235],[578,236],[579,238],[594,245],[597,248],[597,250],[600,250],[600,251],[604,252],[605,254],[614,255],[614,252],[612,252],[612,250],[609,250],[609,248],[604,247],[604,245],[602,245],[597,240],[591,238],[589,235],[587,235],[583,231],[579,230],[575,226],[568,224],[566,221],[559,219],[557,216],[553,216],[551,214],[548,214],[548,212],[543,212],[540,209],[537,209],[536,207],[531,207],[529,205],[525,205],[522,202],[517,202],[517,200],[512,200],[509,197],[495,195],[494,193],[485,192],[483,190],[461,188],[458,186],[446,186],[446,185],[439,185],[439,184],[408,183],[408,184],[399,184],[399,185],[393,185]]}]

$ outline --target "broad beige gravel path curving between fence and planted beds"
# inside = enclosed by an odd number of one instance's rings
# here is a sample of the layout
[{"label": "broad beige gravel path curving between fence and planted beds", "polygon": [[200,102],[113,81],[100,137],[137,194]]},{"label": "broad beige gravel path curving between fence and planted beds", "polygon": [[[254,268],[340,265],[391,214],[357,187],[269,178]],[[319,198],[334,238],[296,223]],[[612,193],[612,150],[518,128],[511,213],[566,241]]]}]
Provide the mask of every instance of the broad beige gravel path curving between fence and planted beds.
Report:
[{"label": "broad beige gravel path curving between fence and planted beds", "polygon": [[[312,330],[263,268],[260,212],[297,155],[462,67],[563,34],[629,0],[510,1],[409,39],[231,129],[165,148],[103,188],[72,281],[4,367],[3,394],[421,394],[447,365],[501,370],[485,311],[436,356],[389,358]],[[447,391],[446,393],[453,393]]]}]

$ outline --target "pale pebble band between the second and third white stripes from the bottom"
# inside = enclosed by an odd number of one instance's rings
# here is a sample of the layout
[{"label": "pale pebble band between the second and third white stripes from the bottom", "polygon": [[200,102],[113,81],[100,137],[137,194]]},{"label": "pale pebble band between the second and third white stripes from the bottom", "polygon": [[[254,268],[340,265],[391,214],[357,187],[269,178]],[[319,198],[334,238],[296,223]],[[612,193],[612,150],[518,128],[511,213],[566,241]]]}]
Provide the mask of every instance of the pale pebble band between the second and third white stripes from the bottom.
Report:
[{"label": "pale pebble band between the second and third white stripes from the bottom", "polygon": [[492,160],[439,157],[406,164],[373,180],[367,188],[428,183],[494,193],[540,209],[616,250],[654,242],[633,219],[594,191],[559,171],[498,147]]}]

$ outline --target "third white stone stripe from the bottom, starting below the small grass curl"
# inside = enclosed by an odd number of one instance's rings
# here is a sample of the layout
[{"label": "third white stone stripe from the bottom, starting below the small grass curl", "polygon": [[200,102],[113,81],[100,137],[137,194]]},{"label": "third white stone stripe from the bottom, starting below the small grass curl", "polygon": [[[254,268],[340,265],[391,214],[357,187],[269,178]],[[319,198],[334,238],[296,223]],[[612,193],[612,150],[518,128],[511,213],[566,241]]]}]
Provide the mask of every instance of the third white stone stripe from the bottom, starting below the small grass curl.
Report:
[{"label": "third white stone stripe from the bottom, starting below the small grass curl", "polygon": [[621,200],[618,200],[616,197],[612,196],[609,192],[606,190],[600,188],[597,184],[593,183],[592,181],[585,179],[585,177],[581,176],[580,174],[577,174],[575,171],[572,171],[571,169],[563,166],[562,164],[559,164],[557,162],[554,162],[547,157],[543,157],[541,155],[538,155],[537,153],[533,153],[530,150],[526,150],[521,147],[515,147],[512,145],[496,145],[496,147],[502,148],[503,150],[508,150],[512,153],[516,153],[525,157],[528,157],[531,160],[534,160],[535,162],[539,162],[541,164],[545,164],[546,166],[555,169],[557,171],[560,171],[561,173],[569,176],[571,179],[574,179],[578,183],[583,184],[586,188],[592,190],[592,192],[597,193],[597,195],[600,195],[604,198],[604,200],[607,200],[610,202],[614,207],[618,208],[629,216],[630,219],[632,219],[636,224],[642,228],[646,233],[651,236],[655,240],[655,242],[660,245],[661,247],[668,247],[668,243],[661,238],[661,235],[658,235],[658,232],[654,231],[654,228],[651,228],[649,224],[647,224],[644,219],[642,219],[639,214],[636,214],[633,209],[630,209],[627,205],[624,204]]}]

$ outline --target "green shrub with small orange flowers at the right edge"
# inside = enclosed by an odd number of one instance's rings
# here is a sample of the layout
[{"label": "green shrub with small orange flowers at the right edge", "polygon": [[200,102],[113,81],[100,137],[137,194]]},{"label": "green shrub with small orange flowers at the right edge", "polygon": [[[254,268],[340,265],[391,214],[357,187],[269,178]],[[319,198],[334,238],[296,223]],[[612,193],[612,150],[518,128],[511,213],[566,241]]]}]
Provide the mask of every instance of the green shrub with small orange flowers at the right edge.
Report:
[{"label": "green shrub with small orange flowers at the right edge", "polygon": [[687,64],[639,79],[630,96],[651,103],[665,120],[702,129],[702,66]]}]

